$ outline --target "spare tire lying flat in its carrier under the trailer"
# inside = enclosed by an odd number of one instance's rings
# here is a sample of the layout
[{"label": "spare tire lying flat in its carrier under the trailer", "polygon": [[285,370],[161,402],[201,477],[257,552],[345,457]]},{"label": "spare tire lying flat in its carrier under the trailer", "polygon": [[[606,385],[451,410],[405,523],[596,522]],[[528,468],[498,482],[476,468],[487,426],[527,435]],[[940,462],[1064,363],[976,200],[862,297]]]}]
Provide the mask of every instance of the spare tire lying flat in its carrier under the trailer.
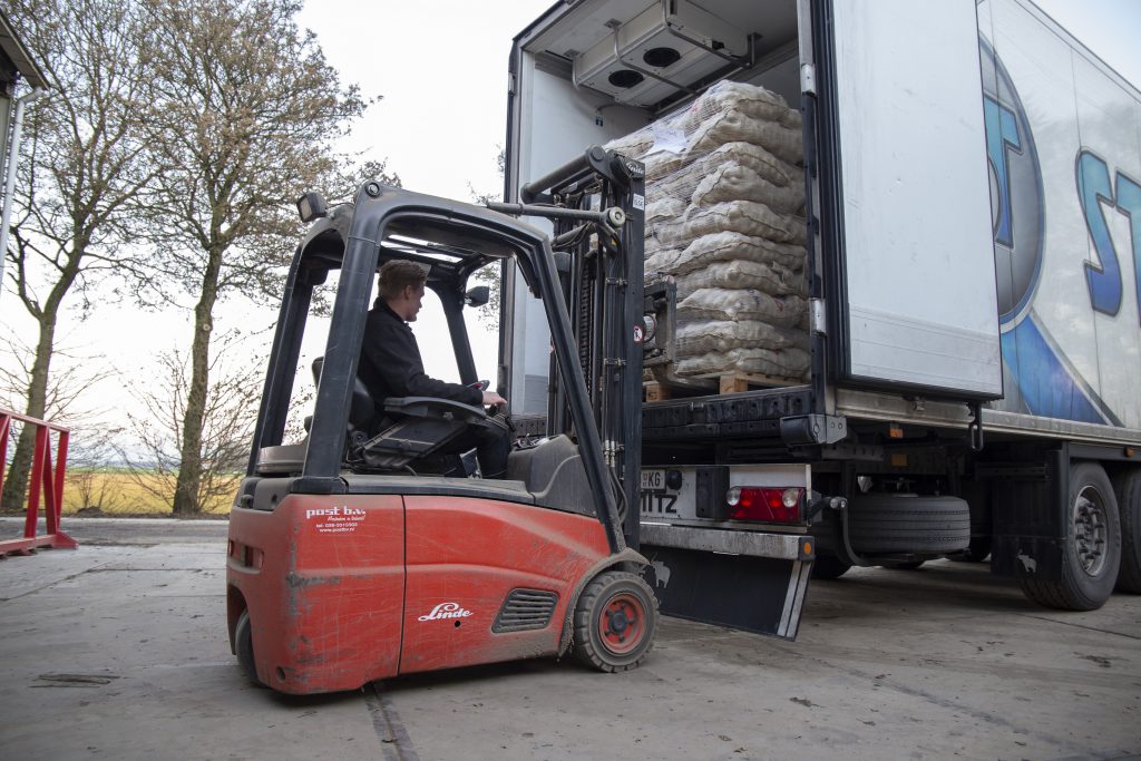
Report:
[{"label": "spare tire lying flat in its carrier under the trailer", "polygon": [[971,509],[956,496],[860,494],[848,508],[848,539],[860,554],[958,552],[971,542]]}]

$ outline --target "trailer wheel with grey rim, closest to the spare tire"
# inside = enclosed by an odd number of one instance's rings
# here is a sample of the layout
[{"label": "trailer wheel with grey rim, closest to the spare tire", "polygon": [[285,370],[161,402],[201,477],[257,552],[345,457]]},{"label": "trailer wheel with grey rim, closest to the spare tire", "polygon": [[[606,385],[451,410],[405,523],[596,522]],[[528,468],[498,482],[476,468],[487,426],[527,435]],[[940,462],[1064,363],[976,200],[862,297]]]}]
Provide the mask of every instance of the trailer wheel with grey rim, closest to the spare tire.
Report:
[{"label": "trailer wheel with grey rim, closest to the spare tire", "polygon": [[1120,559],[1122,529],[1109,477],[1095,462],[1071,465],[1061,578],[1020,577],[1022,592],[1050,608],[1094,610],[1112,594]]}]

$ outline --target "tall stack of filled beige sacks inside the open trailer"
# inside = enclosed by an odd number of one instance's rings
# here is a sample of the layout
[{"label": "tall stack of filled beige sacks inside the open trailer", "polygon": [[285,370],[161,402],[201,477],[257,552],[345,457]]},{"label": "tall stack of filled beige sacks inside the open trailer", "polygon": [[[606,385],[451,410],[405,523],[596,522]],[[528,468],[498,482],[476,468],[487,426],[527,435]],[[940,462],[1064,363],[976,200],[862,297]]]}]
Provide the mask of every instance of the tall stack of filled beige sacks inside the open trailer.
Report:
[{"label": "tall stack of filled beige sacks inside the open trailer", "polygon": [[800,113],[720,82],[606,146],[646,163],[646,280],[678,285],[675,375],[808,373]]}]

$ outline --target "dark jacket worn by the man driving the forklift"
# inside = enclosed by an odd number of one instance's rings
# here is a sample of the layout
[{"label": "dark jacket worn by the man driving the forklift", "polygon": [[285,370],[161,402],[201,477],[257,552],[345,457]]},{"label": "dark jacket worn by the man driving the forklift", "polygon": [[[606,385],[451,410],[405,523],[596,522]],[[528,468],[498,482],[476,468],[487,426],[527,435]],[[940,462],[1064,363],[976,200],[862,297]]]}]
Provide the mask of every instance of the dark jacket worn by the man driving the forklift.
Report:
[{"label": "dark jacket worn by the man driving the forklift", "polygon": [[387,397],[432,396],[479,406],[483,392],[424,374],[420,347],[408,324],[378,298],[365,322],[364,347],[357,371],[379,406]]}]

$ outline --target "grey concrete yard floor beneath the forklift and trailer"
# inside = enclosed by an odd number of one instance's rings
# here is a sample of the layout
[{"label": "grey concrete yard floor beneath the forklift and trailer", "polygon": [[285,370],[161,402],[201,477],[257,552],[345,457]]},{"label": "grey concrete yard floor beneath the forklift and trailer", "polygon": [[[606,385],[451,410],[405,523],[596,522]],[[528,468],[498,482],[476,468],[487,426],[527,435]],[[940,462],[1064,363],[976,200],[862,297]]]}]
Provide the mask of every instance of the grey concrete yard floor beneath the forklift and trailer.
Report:
[{"label": "grey concrete yard floor beneath the forklift and trailer", "polygon": [[853,569],[796,642],[665,618],[628,674],[298,698],[229,654],[225,523],[65,523],[79,550],[0,560],[0,759],[1141,758],[1141,597],[1059,613],[985,567]]}]

